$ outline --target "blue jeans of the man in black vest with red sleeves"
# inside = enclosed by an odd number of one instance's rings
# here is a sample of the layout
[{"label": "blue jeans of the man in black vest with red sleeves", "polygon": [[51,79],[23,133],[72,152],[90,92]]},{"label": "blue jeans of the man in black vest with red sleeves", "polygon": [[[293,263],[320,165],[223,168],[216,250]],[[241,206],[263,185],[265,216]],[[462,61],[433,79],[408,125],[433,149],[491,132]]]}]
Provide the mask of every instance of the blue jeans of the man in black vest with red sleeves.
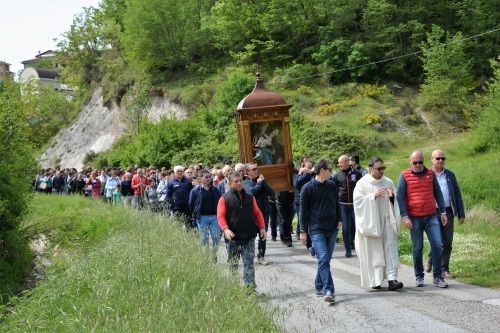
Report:
[{"label": "blue jeans of the man in black vest with red sleeves", "polygon": [[245,285],[255,287],[255,270],[253,259],[255,257],[255,238],[251,239],[226,239],[227,262],[233,272],[238,272],[238,262],[243,259],[243,281]]}]

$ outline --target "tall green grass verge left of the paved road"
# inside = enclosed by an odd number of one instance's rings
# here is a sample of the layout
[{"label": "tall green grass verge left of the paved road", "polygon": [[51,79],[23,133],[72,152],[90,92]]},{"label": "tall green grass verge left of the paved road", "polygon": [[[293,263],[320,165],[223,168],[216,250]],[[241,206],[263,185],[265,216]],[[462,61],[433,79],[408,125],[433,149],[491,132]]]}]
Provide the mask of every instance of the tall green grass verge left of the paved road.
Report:
[{"label": "tall green grass verge left of the paved road", "polygon": [[[87,219],[96,222],[96,231],[107,224],[104,229],[114,231],[94,233],[102,237],[79,247],[83,256],[60,254],[47,280],[4,316],[0,329],[278,331],[272,321],[274,310],[248,296],[238,278],[212,264],[210,253],[200,247],[196,236],[184,232],[175,220],[75,197],[39,200],[43,204],[35,204],[34,215],[43,214],[54,227],[66,219],[57,210],[59,200],[78,207],[83,200],[89,209],[82,208],[85,213],[75,215],[71,225],[85,224]],[[44,212],[38,211],[42,206]]]}]

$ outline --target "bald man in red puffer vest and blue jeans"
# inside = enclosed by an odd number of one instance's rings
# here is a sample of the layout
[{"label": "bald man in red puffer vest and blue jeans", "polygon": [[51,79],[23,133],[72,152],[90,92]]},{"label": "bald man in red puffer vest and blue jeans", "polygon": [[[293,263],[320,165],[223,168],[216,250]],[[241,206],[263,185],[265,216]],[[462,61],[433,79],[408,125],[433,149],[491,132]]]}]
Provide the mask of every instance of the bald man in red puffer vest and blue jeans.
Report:
[{"label": "bald man in red puffer vest and blue jeans", "polygon": [[[432,247],[434,285],[440,288],[448,287],[441,274],[442,250],[439,224],[446,226],[448,222],[443,194],[434,172],[424,166],[424,154],[419,150],[411,153],[410,168],[402,171],[399,176],[397,200],[405,227],[410,229],[415,286],[424,286],[422,251],[425,231]],[[441,212],[440,221],[436,216],[436,203]]]}]

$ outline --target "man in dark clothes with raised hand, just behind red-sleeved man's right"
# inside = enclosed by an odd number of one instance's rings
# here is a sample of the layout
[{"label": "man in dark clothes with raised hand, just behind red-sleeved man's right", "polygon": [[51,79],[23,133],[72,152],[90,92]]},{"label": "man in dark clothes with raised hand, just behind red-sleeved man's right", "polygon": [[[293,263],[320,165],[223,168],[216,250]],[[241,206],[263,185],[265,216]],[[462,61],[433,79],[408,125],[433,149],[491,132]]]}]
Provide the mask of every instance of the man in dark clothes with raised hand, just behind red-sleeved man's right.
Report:
[{"label": "man in dark clothes with raised hand, just behind red-sleeved man's right", "polygon": [[[247,178],[243,182],[245,191],[255,197],[257,206],[259,207],[262,215],[264,216],[264,224],[266,225],[266,232],[269,225],[269,215],[271,214],[271,204],[269,203],[270,196],[273,195],[273,189],[267,184],[264,175],[259,174],[259,168],[255,163],[249,163],[245,166]],[[267,261],[264,260],[266,254],[266,240],[259,239],[258,246],[258,261],[262,266],[267,266]]]}]

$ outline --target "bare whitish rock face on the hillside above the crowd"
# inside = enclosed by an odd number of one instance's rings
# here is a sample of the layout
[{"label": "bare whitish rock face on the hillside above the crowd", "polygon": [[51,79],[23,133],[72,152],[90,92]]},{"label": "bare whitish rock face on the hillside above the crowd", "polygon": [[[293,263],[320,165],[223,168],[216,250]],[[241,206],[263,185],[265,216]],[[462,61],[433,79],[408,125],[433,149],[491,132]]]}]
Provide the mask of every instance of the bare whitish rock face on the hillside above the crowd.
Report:
[{"label": "bare whitish rock face on the hillside above the crowd", "polygon": [[[162,116],[182,119],[187,111],[179,104],[171,102],[167,97],[151,98],[152,107],[147,117],[157,123]],[[123,115],[126,110],[111,102],[109,107],[103,105],[102,88],[97,89],[92,98],[80,111],[75,122],[61,130],[40,156],[40,166],[53,166],[53,158],[60,158],[62,168],[81,170],[85,154],[90,150],[96,153],[111,148],[113,142],[120,138],[127,127]]]}]

